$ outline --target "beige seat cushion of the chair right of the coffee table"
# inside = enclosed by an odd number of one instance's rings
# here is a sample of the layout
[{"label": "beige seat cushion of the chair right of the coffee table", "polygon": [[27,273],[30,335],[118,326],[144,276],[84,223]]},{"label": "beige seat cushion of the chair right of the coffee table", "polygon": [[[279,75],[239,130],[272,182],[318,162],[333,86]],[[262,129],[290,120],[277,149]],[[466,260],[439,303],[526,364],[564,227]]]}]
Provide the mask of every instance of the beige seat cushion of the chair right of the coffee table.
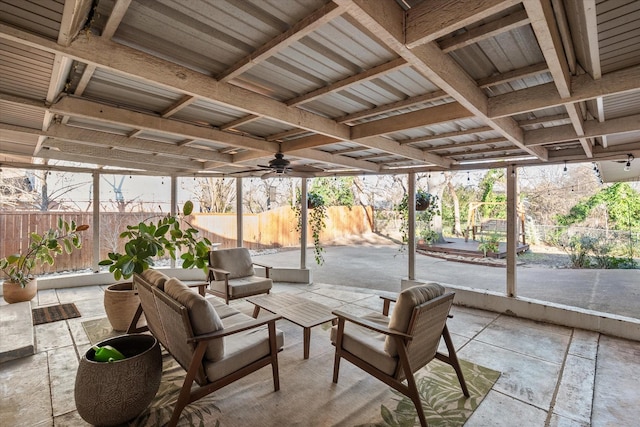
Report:
[{"label": "beige seat cushion of the chair right of the coffee table", "polygon": [[[362,316],[362,319],[375,322],[382,327],[387,327],[389,319],[377,313],[370,313]],[[338,326],[331,328],[331,342],[336,343],[338,337]],[[372,331],[371,329],[346,322],[344,335],[342,337],[342,347],[349,353],[366,360],[382,372],[393,375],[398,364],[397,357],[391,357],[384,350],[386,335]]]}]

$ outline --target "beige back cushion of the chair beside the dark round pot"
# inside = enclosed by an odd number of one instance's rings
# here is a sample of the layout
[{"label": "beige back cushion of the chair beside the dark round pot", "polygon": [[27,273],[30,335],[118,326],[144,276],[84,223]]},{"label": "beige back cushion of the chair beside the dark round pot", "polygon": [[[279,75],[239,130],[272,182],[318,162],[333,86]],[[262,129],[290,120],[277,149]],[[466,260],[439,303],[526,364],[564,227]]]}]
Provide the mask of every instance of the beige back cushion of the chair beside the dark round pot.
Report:
[{"label": "beige back cushion of the chair beside the dark round pot", "polygon": [[[222,329],[222,320],[213,306],[200,294],[190,289],[180,280],[172,277],[164,285],[164,291],[174,300],[184,305],[189,311],[191,328],[196,335],[215,332]],[[187,343],[185,343],[187,345]],[[213,362],[224,356],[224,341],[222,338],[211,340],[207,346],[205,358]]]}]

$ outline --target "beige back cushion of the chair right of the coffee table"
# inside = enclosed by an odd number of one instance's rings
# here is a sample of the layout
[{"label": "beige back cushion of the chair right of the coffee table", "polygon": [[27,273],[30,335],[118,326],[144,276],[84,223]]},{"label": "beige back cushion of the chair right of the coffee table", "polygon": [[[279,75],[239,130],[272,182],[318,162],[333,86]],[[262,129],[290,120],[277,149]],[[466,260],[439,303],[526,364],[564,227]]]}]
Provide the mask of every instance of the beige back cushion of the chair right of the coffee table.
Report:
[{"label": "beige back cushion of the chair right of the coffee table", "polygon": [[[442,294],[444,294],[444,288],[435,282],[412,286],[400,292],[398,301],[393,308],[393,313],[391,313],[391,319],[389,319],[389,329],[407,332],[413,308]],[[391,337],[386,338],[384,349],[390,356],[395,357],[398,355],[396,343]]]}]

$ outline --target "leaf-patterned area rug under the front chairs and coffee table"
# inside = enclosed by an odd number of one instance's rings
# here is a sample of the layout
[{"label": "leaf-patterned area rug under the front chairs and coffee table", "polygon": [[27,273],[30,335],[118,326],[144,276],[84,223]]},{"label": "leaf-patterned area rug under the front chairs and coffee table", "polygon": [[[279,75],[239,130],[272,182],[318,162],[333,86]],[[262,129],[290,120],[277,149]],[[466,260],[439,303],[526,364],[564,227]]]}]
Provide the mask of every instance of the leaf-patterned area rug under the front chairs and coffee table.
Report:
[{"label": "leaf-patterned area rug under the front chairs and coffee table", "polygon": [[[87,322],[84,322],[87,323]],[[83,325],[92,343],[109,335],[108,323]],[[194,403],[182,412],[179,426],[418,426],[415,407],[405,396],[347,361],[333,384],[333,347],[324,327],[314,329],[311,357],[302,358],[302,330],[287,323],[285,348],[278,355],[280,391],[273,391],[271,369],[263,368]],[[462,426],[500,376],[499,372],[461,361],[471,397],[465,398],[455,371],[438,360],[416,375],[430,427]],[[171,417],[185,371],[164,353],[160,389],[153,402],[129,425],[164,425]]]}]

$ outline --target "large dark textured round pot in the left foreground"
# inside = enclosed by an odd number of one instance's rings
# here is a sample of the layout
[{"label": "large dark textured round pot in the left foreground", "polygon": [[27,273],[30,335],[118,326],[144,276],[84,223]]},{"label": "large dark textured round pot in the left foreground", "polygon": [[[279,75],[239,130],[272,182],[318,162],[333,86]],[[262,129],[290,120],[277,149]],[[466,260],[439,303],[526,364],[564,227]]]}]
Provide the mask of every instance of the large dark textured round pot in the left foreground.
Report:
[{"label": "large dark textured round pot in the left foreground", "polygon": [[146,334],[122,335],[97,345],[110,345],[125,359],[96,362],[94,348],[89,349],[76,374],[76,408],[90,424],[115,426],[140,415],[158,392],[162,377],[160,345]]}]

